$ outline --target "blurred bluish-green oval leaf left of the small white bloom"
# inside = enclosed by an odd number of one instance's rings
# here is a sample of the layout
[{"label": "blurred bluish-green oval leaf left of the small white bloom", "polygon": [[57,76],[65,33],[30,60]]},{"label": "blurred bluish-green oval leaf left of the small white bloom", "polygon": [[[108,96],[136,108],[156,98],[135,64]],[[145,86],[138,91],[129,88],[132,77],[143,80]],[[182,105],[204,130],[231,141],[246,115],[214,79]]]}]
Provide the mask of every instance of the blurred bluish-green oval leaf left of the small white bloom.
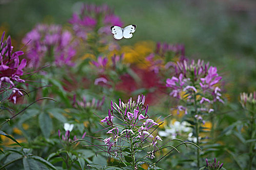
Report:
[{"label": "blurred bluish-green oval leaf left of the small white bloom", "polygon": [[53,128],[52,119],[46,113],[40,113],[39,115],[39,127],[43,136],[48,138],[51,135],[51,130]]}]

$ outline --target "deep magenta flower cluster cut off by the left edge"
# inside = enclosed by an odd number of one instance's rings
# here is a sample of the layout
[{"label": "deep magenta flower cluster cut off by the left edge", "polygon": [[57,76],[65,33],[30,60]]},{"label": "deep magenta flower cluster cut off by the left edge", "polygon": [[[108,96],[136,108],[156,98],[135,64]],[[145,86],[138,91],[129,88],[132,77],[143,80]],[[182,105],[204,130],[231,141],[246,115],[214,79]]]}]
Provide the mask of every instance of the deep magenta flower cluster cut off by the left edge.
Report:
[{"label": "deep magenta flower cluster cut off by the left edge", "polygon": [[[26,66],[26,59],[20,61],[19,56],[23,55],[23,51],[13,51],[11,36],[7,40],[4,39],[3,32],[0,40],[0,93],[11,89],[12,93],[8,96],[8,100],[14,103],[17,102],[17,97],[22,96],[20,89],[15,86],[18,83],[24,83],[25,80],[21,79],[23,75],[23,68]],[[5,100],[7,98],[4,98]],[[3,101],[0,101],[3,102]]]}]

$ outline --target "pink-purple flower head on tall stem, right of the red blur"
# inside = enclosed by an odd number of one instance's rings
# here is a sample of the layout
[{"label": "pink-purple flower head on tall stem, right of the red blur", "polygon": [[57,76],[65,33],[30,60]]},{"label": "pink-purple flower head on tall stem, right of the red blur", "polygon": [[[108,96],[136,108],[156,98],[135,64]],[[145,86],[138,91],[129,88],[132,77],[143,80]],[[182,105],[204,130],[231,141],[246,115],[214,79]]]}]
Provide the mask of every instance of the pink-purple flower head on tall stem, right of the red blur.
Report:
[{"label": "pink-purple flower head on tall stem, right of the red blur", "polygon": [[172,89],[170,96],[192,101],[194,99],[191,94],[200,92],[203,94],[200,104],[224,102],[218,86],[222,77],[218,75],[216,67],[209,67],[209,63],[204,64],[202,60],[198,60],[197,63],[194,60],[191,63],[183,60],[177,63],[171,62],[168,65],[175,69],[175,76],[166,80],[166,86]]}]

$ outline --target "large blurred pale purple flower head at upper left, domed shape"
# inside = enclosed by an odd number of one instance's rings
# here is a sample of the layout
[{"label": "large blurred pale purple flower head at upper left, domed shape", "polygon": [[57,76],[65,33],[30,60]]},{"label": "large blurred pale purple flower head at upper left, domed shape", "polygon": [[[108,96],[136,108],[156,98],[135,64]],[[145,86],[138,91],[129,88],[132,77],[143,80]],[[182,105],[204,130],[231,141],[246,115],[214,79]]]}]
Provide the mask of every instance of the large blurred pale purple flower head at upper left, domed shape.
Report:
[{"label": "large blurred pale purple flower head at upper left, domed shape", "polygon": [[74,66],[76,41],[69,31],[60,25],[39,24],[26,34],[22,42],[27,46],[29,67],[38,68],[41,63],[55,62],[57,66]]}]

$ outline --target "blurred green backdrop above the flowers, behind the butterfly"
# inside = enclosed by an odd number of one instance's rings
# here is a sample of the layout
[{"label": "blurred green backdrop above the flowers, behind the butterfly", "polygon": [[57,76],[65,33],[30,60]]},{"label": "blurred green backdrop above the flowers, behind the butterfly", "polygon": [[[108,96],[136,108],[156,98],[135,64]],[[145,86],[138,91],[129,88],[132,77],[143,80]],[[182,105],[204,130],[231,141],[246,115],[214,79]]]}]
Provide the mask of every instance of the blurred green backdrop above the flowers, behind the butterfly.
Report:
[{"label": "blurred green backdrop above the flowers, behind the butterfly", "polygon": [[81,2],[106,3],[124,25],[137,24],[135,36],[122,45],[183,43],[189,58],[217,66],[232,101],[242,91],[255,90],[255,0],[0,0],[0,31],[7,30],[21,47],[21,38],[37,23],[69,26]]}]

